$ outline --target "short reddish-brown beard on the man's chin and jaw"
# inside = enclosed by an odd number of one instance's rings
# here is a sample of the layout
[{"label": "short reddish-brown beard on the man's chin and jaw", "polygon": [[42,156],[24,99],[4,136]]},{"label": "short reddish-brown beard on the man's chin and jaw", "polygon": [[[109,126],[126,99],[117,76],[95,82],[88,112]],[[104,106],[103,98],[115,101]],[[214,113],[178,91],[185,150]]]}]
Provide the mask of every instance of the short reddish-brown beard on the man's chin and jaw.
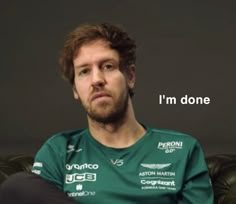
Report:
[{"label": "short reddish-brown beard on the man's chin and jaw", "polygon": [[118,99],[111,103],[109,102],[100,102],[96,104],[96,106],[86,106],[82,103],[85,111],[92,120],[103,123],[103,124],[111,124],[111,123],[118,123],[122,121],[125,117],[128,107],[128,99],[129,93],[126,89],[125,93],[118,97]]}]

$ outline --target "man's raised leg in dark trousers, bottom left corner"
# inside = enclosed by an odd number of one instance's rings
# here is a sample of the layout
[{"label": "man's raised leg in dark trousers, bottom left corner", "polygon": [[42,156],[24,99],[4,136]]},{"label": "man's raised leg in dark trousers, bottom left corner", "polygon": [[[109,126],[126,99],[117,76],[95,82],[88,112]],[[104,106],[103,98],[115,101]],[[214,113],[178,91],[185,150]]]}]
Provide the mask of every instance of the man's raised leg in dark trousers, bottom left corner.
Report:
[{"label": "man's raised leg in dark trousers, bottom left corner", "polygon": [[4,204],[78,204],[42,177],[19,172],[0,186],[0,203]]}]

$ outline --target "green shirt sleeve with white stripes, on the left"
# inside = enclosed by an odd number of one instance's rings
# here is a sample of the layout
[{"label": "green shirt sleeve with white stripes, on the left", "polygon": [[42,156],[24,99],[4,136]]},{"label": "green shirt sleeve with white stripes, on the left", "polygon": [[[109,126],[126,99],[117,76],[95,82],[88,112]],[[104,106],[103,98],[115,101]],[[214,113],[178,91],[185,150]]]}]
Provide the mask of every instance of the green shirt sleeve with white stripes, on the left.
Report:
[{"label": "green shirt sleeve with white stripes, on the left", "polygon": [[[55,148],[53,148],[55,147]],[[35,156],[32,173],[35,173],[63,190],[64,156],[56,145],[46,142]]]}]

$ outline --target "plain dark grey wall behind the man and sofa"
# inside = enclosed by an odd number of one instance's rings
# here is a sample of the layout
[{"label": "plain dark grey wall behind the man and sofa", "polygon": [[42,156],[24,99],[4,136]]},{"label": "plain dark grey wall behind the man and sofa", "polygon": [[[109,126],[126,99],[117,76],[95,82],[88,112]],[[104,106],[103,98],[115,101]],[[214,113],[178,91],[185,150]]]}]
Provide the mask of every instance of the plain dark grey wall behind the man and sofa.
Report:
[{"label": "plain dark grey wall behind the man and sofa", "polygon": [[[3,0],[0,3],[0,153],[35,154],[51,135],[86,127],[59,73],[66,35],[83,23],[123,25],[138,44],[139,121],[196,137],[206,154],[235,153],[234,1]],[[159,95],[210,97],[160,105]]]}]

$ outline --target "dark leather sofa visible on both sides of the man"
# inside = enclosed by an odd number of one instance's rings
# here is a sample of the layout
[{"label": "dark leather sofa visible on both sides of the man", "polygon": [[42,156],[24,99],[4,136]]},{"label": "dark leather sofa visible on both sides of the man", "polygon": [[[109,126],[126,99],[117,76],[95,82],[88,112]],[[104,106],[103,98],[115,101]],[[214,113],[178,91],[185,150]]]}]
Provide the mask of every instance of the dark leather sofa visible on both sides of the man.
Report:
[{"label": "dark leather sofa visible on both sides of the man", "polygon": [[[215,204],[236,204],[236,155],[219,154],[206,157],[214,188]],[[10,175],[30,172],[33,156],[0,157],[0,184]]]}]

